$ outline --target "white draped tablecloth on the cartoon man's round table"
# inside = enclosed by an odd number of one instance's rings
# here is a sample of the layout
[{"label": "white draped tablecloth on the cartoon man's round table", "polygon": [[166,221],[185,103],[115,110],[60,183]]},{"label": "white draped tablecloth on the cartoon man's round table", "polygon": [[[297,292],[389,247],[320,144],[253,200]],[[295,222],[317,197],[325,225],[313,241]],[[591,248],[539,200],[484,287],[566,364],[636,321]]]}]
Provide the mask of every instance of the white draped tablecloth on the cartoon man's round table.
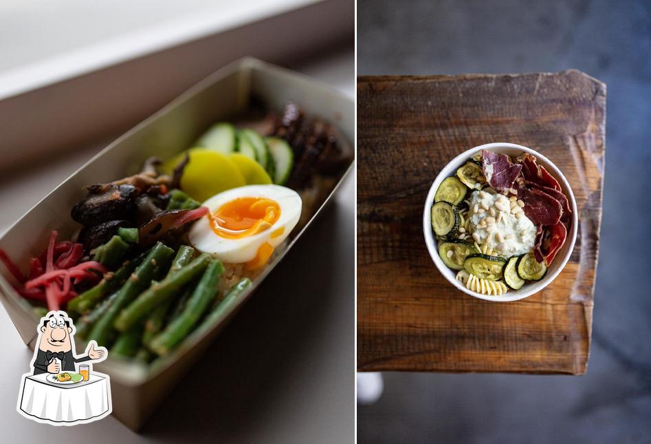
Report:
[{"label": "white draped tablecloth on the cartoon man's round table", "polygon": [[91,373],[88,381],[63,385],[47,380],[51,374],[25,378],[21,410],[39,419],[71,422],[91,419],[109,410],[107,379]]}]

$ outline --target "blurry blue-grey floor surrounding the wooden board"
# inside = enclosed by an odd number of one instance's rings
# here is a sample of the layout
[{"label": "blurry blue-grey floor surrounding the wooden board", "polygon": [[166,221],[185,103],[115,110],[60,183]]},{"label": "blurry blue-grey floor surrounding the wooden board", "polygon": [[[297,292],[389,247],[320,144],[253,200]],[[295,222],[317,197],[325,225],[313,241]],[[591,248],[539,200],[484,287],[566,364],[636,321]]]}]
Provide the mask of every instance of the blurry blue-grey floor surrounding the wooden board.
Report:
[{"label": "blurry blue-grey floor surrounding the wooden board", "polygon": [[577,68],[608,85],[587,374],[385,373],[359,442],[651,443],[651,3],[359,0],[357,20],[358,75]]}]

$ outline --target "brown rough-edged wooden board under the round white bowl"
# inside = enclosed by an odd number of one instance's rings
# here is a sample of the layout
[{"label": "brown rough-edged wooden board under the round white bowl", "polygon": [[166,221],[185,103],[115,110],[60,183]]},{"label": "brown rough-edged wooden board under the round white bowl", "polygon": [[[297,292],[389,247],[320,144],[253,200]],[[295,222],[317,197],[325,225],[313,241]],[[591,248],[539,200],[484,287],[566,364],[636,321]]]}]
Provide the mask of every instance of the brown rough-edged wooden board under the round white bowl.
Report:
[{"label": "brown rough-edged wooden board under the round white bowl", "polygon": [[[357,368],[584,374],[604,179],[606,85],[582,72],[357,79]],[[423,204],[454,156],[489,142],[540,151],[579,209],[571,259],[518,302],[439,273]]]}]

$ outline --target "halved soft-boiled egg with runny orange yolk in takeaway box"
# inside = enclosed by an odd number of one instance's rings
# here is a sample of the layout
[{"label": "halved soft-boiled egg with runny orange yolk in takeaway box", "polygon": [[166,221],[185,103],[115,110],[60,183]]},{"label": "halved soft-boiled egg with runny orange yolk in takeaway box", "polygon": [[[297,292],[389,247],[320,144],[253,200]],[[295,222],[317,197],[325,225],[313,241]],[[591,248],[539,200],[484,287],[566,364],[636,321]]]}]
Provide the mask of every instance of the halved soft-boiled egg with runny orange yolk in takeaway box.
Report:
[{"label": "halved soft-boiled egg with runny orange yolk in takeaway box", "polygon": [[266,264],[294,229],[301,201],[296,191],[280,185],[247,185],[216,194],[203,206],[209,212],[190,229],[192,245],[252,270]]}]

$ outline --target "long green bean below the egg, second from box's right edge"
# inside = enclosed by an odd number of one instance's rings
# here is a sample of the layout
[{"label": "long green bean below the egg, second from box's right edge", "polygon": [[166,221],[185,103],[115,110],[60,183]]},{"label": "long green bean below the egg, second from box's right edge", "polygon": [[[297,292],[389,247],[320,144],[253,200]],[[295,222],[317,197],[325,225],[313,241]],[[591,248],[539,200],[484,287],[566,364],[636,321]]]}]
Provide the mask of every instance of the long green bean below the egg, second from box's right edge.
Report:
[{"label": "long green bean below the egg, second from box's right edge", "polygon": [[149,348],[153,352],[157,355],[166,355],[170,348],[173,348],[188,335],[188,332],[197,324],[203,313],[206,313],[210,302],[217,294],[217,284],[219,284],[219,278],[223,271],[224,267],[221,262],[217,260],[210,261],[206,271],[201,276],[199,284],[197,284],[197,288],[192,292],[183,313],[170,322],[160,335],[152,339]]}]

